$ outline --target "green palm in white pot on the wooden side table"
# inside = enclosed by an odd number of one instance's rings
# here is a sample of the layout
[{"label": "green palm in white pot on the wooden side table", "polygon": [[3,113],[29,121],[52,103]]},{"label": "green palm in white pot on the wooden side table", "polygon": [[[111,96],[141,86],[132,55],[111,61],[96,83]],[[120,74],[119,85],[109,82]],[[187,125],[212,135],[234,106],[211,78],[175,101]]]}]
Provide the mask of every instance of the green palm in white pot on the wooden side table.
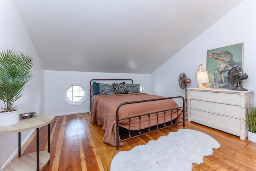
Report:
[{"label": "green palm in white pot on the wooden side table", "polygon": [[33,59],[22,52],[6,50],[0,53],[0,126],[13,125],[19,122],[18,105],[14,101],[23,95],[26,82],[32,78]]}]

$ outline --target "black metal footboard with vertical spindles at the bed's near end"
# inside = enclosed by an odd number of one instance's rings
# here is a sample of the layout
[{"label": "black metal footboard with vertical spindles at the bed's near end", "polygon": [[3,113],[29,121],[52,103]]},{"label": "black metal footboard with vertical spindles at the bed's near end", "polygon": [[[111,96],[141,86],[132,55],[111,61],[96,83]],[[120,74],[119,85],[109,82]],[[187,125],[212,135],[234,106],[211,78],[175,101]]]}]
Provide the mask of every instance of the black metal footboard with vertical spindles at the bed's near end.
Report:
[{"label": "black metal footboard with vertical spindles at the bed's near end", "polygon": [[[128,105],[128,104],[132,104],[132,103],[142,103],[142,102],[147,102],[147,101],[157,101],[157,100],[164,100],[164,99],[182,99],[183,101],[183,106],[182,107],[177,107],[177,108],[174,108],[174,109],[168,109],[168,110],[162,110],[162,111],[157,111],[157,112],[153,112],[153,113],[146,113],[146,114],[143,114],[143,115],[137,115],[137,116],[132,116],[132,117],[126,117],[126,118],[122,118],[122,119],[119,119],[119,109],[120,107],[122,107],[123,105]],[[116,150],[119,149],[119,142],[121,141],[126,141],[128,139],[131,139],[131,138],[134,138],[134,137],[138,137],[138,136],[141,136],[141,135],[144,135],[144,134],[147,134],[147,133],[150,133],[150,132],[154,132],[154,131],[157,131],[157,130],[160,130],[160,129],[164,129],[164,128],[167,128],[167,127],[170,127],[170,126],[173,126],[173,125],[177,125],[179,123],[182,123],[183,122],[183,127],[185,127],[185,112],[184,112],[184,109],[185,109],[185,100],[184,100],[184,97],[182,96],[176,96],[176,97],[166,97],[166,98],[160,98],[160,99],[149,99],[149,100],[141,100],[141,101],[130,101],[130,102],[125,102],[125,103],[121,103],[117,109],[116,109]],[[178,122],[177,123],[173,123],[173,119],[172,119],[172,112],[174,112],[175,110],[182,110],[182,115],[183,115],[183,120],[181,122]],[[170,111],[171,112],[171,121],[168,121],[170,122],[170,125],[166,125],[166,111]],[[159,128],[158,127],[158,115],[160,112],[164,112],[164,127],[161,127]],[[148,116],[148,132],[145,132],[145,133],[142,133],[141,132],[141,128],[139,128],[139,134],[138,135],[135,135],[135,136],[131,136],[131,120],[132,118],[138,118],[139,121],[141,121],[141,118],[142,116]],[[156,127],[156,129],[154,130],[150,130],[150,116],[151,115],[156,115],[156,125],[154,126],[151,126],[151,127]],[[177,117],[178,117],[178,112],[177,112]],[[125,120],[125,119],[128,119],[129,120],[129,137],[126,138],[126,139],[121,139],[119,140],[119,121],[122,121],[122,120]],[[140,127],[140,122],[139,122],[139,127]]]}]

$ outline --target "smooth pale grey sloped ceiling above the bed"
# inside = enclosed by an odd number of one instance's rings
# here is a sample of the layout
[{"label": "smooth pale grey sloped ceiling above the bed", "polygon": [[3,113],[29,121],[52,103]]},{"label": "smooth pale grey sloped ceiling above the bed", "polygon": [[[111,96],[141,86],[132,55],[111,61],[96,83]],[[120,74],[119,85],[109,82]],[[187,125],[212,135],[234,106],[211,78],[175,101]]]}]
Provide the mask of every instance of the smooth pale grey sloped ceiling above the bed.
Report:
[{"label": "smooth pale grey sloped ceiling above the bed", "polygon": [[150,74],[242,0],[14,0],[45,70]]}]

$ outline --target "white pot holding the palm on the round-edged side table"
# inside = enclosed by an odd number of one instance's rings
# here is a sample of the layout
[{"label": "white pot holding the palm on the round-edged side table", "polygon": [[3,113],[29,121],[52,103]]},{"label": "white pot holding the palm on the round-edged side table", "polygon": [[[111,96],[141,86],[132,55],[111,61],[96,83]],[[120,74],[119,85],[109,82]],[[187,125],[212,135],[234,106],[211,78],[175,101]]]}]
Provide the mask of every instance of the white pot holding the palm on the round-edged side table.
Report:
[{"label": "white pot holding the palm on the round-edged side table", "polygon": [[20,109],[0,113],[0,127],[14,125],[20,121]]}]

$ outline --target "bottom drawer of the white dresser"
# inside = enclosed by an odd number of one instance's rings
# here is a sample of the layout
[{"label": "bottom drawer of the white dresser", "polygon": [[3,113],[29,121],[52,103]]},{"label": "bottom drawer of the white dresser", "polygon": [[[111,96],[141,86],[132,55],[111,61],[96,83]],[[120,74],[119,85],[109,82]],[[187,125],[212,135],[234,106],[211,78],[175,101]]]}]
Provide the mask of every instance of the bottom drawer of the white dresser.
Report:
[{"label": "bottom drawer of the white dresser", "polygon": [[240,136],[240,119],[191,109],[190,121]]}]

